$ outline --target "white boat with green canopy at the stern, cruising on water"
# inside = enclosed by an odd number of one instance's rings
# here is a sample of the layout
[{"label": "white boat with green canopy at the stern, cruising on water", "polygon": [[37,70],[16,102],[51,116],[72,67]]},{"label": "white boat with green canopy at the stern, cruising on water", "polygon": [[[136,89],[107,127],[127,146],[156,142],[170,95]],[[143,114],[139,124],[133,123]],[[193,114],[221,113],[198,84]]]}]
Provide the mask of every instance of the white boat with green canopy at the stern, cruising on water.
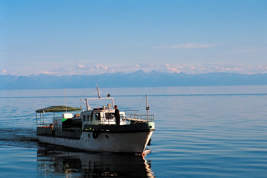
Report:
[{"label": "white boat with green canopy at the stern, cruising on water", "polygon": [[[126,109],[119,112],[119,122],[116,123],[114,98],[110,94],[101,97],[98,86],[96,90],[96,98],[80,99],[85,104],[85,110],[66,105],[36,110],[39,142],[87,152],[143,154],[155,131],[154,115],[149,114],[148,102],[146,114]],[[110,103],[91,109],[89,104],[94,100],[109,100]],[[53,123],[45,123],[45,113],[53,113],[50,114]],[[55,116],[59,113],[62,114],[60,117]]]}]

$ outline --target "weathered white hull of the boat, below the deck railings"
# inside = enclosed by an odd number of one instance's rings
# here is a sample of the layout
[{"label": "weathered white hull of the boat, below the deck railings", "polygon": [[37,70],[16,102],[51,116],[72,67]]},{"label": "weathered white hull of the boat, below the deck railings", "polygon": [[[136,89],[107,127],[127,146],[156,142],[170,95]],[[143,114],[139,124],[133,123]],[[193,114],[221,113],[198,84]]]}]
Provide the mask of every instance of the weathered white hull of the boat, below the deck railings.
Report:
[{"label": "weathered white hull of the boat, below the deck railings", "polygon": [[[100,132],[93,138],[92,131],[82,131],[80,139],[38,135],[39,142],[60,145],[88,152],[127,152],[142,153],[153,131],[141,132]],[[95,136],[96,137],[96,136]]]}]

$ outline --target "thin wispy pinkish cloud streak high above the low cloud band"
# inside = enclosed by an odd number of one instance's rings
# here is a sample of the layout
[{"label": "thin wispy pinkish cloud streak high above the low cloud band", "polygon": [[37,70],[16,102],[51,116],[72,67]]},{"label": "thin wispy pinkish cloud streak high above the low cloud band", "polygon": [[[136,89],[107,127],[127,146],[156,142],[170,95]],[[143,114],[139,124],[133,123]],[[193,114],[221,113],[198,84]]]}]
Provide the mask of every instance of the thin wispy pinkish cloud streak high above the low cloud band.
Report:
[{"label": "thin wispy pinkish cloud streak high above the low cloud band", "polygon": [[218,44],[198,44],[198,43],[186,43],[178,45],[169,45],[169,46],[158,46],[155,48],[158,49],[186,49],[186,48],[208,48],[219,46]]}]

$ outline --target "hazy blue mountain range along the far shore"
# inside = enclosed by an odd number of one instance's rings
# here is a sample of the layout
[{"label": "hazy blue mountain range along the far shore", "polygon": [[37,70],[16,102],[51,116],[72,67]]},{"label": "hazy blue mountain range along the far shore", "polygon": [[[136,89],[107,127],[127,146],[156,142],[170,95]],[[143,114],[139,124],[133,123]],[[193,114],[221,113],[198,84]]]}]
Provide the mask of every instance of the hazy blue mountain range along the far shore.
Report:
[{"label": "hazy blue mountain range along the far shore", "polygon": [[56,89],[56,88],[102,88],[117,87],[174,87],[174,86],[227,86],[267,85],[266,74],[238,74],[212,72],[185,74],[166,72],[104,73],[95,75],[56,76],[39,74],[26,76],[0,75],[0,90],[9,89]]}]

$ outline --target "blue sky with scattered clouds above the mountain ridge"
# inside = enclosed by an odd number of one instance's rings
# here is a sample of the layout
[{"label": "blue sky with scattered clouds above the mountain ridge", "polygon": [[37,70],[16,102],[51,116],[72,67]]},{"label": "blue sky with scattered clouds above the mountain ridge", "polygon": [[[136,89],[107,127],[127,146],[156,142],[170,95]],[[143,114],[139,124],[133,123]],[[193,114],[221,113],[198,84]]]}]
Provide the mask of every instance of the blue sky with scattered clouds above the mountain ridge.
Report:
[{"label": "blue sky with scattered clouds above the mountain ridge", "polygon": [[0,0],[0,75],[267,73],[266,0]]}]

